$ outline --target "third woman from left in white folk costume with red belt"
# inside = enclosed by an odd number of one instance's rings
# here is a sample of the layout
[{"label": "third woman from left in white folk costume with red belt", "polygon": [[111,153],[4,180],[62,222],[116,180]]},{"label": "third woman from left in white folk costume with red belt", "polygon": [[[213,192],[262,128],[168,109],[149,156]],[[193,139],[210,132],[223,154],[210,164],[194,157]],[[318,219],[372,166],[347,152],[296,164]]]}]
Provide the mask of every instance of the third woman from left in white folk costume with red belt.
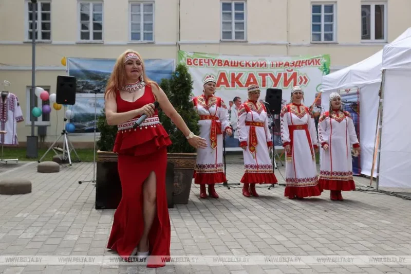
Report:
[{"label": "third woman from left in white folk costume with red belt", "polygon": [[281,139],[286,151],[286,189],[284,196],[295,199],[321,195],[315,164],[317,134],[314,118],[303,105],[304,93],[294,86],[291,103],[284,106],[281,117]]}]

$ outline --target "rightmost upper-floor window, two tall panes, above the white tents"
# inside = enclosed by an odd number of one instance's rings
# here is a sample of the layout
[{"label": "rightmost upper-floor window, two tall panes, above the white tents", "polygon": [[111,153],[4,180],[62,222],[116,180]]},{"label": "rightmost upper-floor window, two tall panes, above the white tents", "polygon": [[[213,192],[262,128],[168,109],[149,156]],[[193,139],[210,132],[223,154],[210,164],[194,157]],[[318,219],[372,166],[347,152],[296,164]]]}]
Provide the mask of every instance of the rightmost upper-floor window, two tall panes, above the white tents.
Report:
[{"label": "rightmost upper-floor window, two tall panes, above the white tents", "polygon": [[361,5],[361,40],[385,42],[386,22],[384,3]]}]

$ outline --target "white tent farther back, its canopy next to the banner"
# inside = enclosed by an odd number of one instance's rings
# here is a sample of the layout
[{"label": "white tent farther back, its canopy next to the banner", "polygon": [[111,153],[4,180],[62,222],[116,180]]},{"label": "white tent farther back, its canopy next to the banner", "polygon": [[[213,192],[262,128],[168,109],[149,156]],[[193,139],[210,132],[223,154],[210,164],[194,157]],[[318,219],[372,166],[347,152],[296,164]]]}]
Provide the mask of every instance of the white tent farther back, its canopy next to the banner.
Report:
[{"label": "white tent farther back, its canopy next to the banner", "polygon": [[[411,37],[411,28],[404,31],[391,44],[399,43],[409,37]],[[329,108],[329,95],[332,92],[346,89],[359,90],[361,173],[367,176],[371,175],[374,155],[382,62],[383,50],[380,50],[361,62],[324,76],[322,80],[321,102],[325,111]],[[376,171],[373,174],[375,176]]]}]

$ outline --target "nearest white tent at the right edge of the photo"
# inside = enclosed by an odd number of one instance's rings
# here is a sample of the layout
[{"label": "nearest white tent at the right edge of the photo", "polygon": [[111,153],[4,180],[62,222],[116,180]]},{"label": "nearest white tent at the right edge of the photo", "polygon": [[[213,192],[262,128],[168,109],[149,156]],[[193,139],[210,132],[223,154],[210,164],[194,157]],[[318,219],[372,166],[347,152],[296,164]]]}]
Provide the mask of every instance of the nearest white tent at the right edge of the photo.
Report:
[{"label": "nearest white tent at the right edge of the photo", "polygon": [[411,37],[383,50],[383,106],[379,180],[381,187],[411,188]]}]

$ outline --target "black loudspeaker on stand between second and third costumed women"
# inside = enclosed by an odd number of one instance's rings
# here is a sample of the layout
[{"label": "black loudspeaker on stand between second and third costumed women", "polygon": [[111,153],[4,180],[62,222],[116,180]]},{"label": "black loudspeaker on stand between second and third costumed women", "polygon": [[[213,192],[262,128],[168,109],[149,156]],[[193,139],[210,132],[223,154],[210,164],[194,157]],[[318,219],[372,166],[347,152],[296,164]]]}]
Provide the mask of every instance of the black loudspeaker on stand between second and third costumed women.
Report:
[{"label": "black loudspeaker on stand between second and third costumed women", "polygon": [[[275,157],[277,157],[278,161],[281,162],[281,165],[284,167],[284,163],[279,157],[277,150],[275,149],[275,141],[274,141],[274,127],[275,127],[275,130],[279,132],[279,129],[277,125],[275,124],[274,115],[279,115],[281,113],[282,101],[283,101],[283,90],[282,89],[267,88],[265,103],[266,103],[266,107],[273,121],[272,123],[273,126],[271,126],[271,136],[273,137],[273,153],[272,153],[273,154],[273,173],[274,173],[274,170],[277,169],[277,163],[275,161]],[[274,187],[274,184],[272,184],[268,189],[271,189],[272,187]]]}]

